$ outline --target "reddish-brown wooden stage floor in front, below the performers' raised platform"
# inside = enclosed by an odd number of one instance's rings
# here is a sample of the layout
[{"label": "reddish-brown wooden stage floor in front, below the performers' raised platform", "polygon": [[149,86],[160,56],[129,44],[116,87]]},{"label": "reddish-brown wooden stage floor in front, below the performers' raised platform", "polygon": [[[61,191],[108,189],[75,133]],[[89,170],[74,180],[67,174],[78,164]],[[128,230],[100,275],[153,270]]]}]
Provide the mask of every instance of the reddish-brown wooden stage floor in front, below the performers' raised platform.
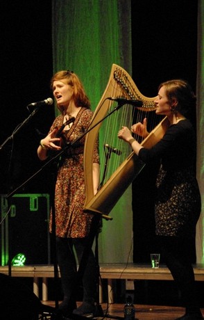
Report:
[{"label": "reddish-brown wooden stage floor in front, below the performers' raised platform", "polygon": [[[55,307],[53,301],[43,301],[42,303]],[[106,303],[102,303],[101,307],[104,317],[98,317],[97,319],[120,319],[124,317],[123,304],[113,303],[107,305]],[[135,305],[135,309],[135,320],[175,320],[185,313],[185,310],[182,307],[169,307],[163,305]],[[201,309],[201,312],[204,316],[204,309]]]}]

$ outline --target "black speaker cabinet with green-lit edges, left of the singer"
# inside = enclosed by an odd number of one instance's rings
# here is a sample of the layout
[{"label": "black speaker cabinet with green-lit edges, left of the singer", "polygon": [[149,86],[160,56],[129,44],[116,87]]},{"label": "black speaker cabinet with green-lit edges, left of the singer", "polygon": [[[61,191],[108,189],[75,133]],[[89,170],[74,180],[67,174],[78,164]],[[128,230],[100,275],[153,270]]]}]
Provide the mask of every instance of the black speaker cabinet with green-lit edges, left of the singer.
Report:
[{"label": "black speaker cabinet with green-lit edges, left of the singer", "polygon": [[[49,195],[1,195],[1,265],[22,253],[25,264],[50,264]],[[2,222],[3,221],[3,222]]]}]

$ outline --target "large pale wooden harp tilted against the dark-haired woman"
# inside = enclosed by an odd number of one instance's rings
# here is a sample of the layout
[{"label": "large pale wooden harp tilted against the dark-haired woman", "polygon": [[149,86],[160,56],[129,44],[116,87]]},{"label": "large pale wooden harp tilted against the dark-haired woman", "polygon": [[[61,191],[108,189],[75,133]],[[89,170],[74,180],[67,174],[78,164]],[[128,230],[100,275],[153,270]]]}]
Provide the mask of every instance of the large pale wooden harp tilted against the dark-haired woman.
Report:
[{"label": "large pale wooden harp tilted against the dark-haired woman", "polygon": [[[142,100],[143,104],[142,107],[138,108],[133,108],[133,106],[127,104],[116,110],[114,106],[115,102],[108,99],[109,97],[139,99]],[[117,132],[122,125],[130,127],[133,123],[142,121],[146,117],[148,119],[147,123],[151,124],[153,128],[148,128],[150,134],[139,141],[144,147],[155,145],[164,135],[169,122],[167,118],[160,118],[160,116],[155,115],[155,112],[153,112],[155,111],[154,99],[155,97],[145,97],[139,92],[126,70],[119,65],[112,65],[108,84],[94,111],[90,130],[85,139],[84,170],[86,198],[84,212],[100,214],[103,218],[109,218],[108,214],[110,214],[114,205],[144,167],[144,163],[139,160],[128,143],[117,138]],[[115,113],[114,110],[116,110]],[[108,113],[111,113],[110,117],[108,117]],[[105,120],[101,121],[104,118]],[[155,122],[154,118],[158,119],[158,123]],[[109,136],[105,128],[108,128],[110,131]],[[100,189],[94,195],[92,159],[94,145],[98,136],[100,147],[102,145],[104,150],[101,152],[100,149]],[[135,138],[138,141],[139,137],[135,136]],[[108,150],[105,150],[107,146]],[[105,153],[105,156],[103,153]],[[121,157],[121,154],[123,154],[123,157]],[[110,158],[112,158],[114,164],[109,162]],[[106,170],[107,166],[112,168],[112,170]]]}]

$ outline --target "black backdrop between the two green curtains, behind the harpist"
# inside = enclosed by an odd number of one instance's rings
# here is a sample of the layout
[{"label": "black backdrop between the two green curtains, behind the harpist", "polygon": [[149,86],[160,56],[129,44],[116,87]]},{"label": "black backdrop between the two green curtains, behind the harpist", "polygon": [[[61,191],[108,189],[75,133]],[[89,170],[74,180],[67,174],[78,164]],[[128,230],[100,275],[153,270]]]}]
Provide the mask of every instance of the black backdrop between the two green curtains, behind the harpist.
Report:
[{"label": "black backdrop between the two green curtains, behind the harpist", "polygon": [[[147,97],[157,95],[162,81],[176,78],[189,81],[196,92],[197,6],[194,0],[132,1],[133,79]],[[196,111],[192,121],[196,127]],[[135,262],[149,262],[150,253],[158,250],[153,202],[156,173],[152,163],[133,182]],[[189,252],[194,261],[195,251],[193,243]]]}]

